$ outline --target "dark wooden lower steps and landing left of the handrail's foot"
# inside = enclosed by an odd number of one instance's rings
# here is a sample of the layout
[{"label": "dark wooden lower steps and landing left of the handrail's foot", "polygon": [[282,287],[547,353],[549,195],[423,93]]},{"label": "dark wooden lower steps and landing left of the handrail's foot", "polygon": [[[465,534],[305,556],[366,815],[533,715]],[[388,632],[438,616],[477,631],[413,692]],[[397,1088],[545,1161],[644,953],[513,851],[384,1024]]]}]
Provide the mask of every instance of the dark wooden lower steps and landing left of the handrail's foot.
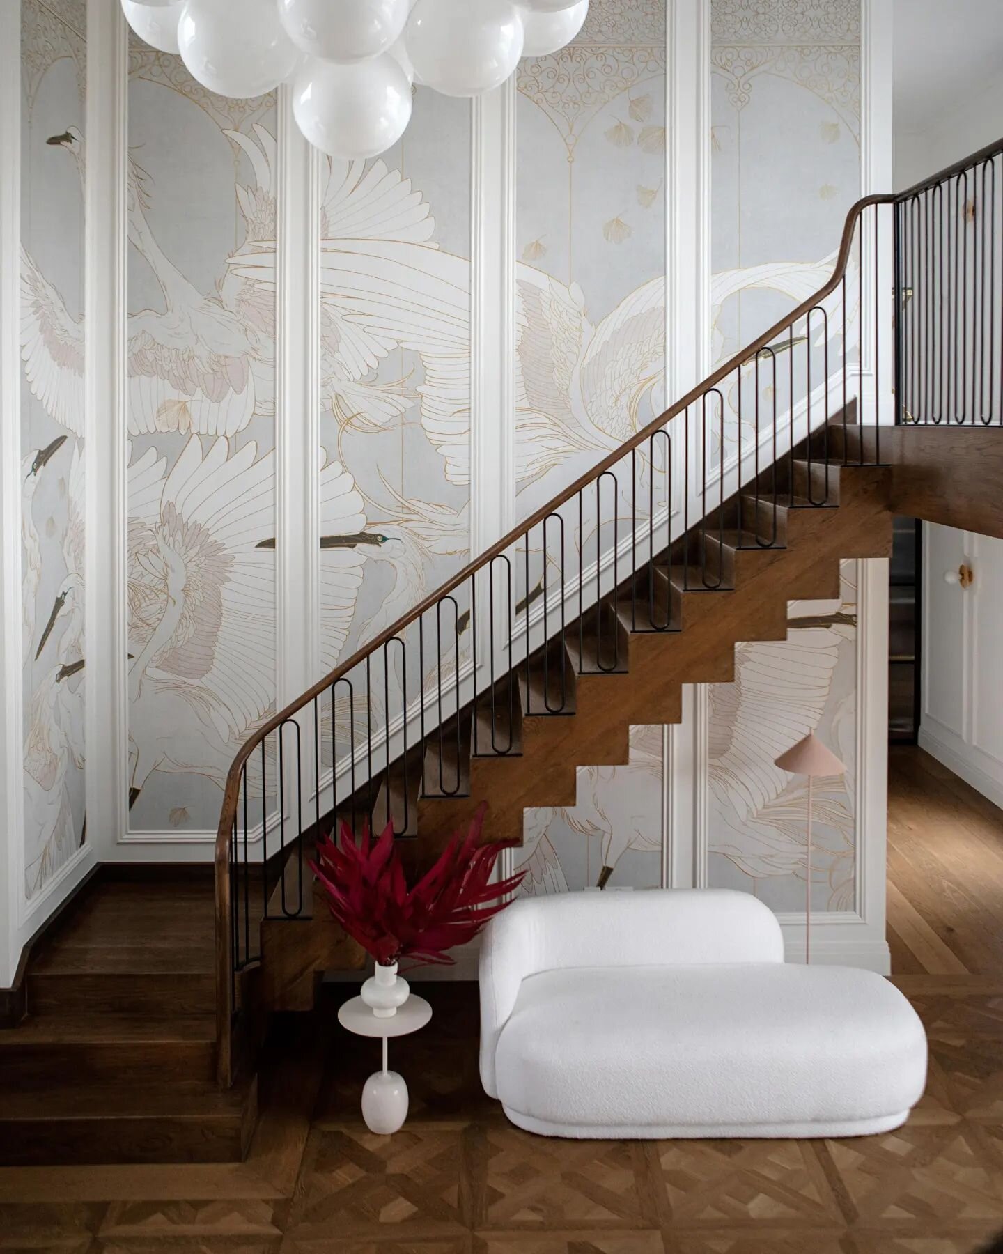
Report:
[{"label": "dark wooden lower steps and landing left of the handrail's foot", "polygon": [[0,1164],[241,1160],[257,1085],[216,1083],[214,953],[209,877],[89,884],[0,1031]]}]

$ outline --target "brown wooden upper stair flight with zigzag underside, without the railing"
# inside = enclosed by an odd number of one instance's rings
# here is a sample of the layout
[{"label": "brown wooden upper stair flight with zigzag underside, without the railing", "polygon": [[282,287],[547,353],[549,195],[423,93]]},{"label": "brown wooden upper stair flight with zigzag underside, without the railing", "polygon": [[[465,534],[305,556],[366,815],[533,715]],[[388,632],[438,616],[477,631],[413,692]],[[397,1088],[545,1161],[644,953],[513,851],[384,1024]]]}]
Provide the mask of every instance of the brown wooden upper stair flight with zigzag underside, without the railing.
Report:
[{"label": "brown wooden upper stair flight with zigzag underside, without the railing", "polygon": [[[859,430],[844,435],[834,425],[830,454],[841,463],[845,445],[848,459],[855,456],[860,438]],[[688,538],[691,554],[702,539],[711,554],[706,566],[687,569],[686,539],[656,554],[495,685],[494,720],[491,696],[483,692],[441,735],[436,729],[426,739],[424,755],[415,746],[406,760],[391,761],[379,786],[361,789],[339,814],[354,814],[356,826],[367,819],[376,831],[392,821],[411,875],[430,865],[485,800],[485,839],[520,845],[527,809],[578,803],[579,767],[627,764],[632,725],[678,722],[683,683],[731,682],[737,643],[786,638],[789,601],[838,597],[844,558],[890,553],[890,466],[826,468],[802,446],[767,477],[786,504],[774,505],[772,497],[767,503],[755,484],[726,502]],[[825,504],[814,505],[809,492]],[[720,587],[705,586],[718,577]],[[491,750],[491,726],[501,752]],[[603,868],[598,887],[611,872]],[[298,874],[293,851],[291,885]],[[277,887],[276,905],[278,893]],[[316,885],[301,918],[272,913],[261,952],[268,1009],[310,1009],[325,969],[364,964]]]}]

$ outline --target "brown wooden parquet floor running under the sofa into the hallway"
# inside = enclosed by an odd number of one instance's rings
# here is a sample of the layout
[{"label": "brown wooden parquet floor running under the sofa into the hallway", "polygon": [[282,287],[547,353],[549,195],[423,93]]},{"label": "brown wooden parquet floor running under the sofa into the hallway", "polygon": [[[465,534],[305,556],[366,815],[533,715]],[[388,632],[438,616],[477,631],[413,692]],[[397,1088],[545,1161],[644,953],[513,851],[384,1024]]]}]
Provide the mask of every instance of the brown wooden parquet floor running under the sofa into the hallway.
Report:
[{"label": "brown wooden parquet floor running under the sofa into the hallway", "polygon": [[1003,813],[918,750],[890,779],[895,979],[930,1038],[909,1124],[829,1141],[552,1141],[481,1092],[473,989],[391,1045],[394,1137],[340,997],[283,1025],[247,1162],[0,1170],[0,1250],[79,1254],[970,1254],[1003,1229]]}]

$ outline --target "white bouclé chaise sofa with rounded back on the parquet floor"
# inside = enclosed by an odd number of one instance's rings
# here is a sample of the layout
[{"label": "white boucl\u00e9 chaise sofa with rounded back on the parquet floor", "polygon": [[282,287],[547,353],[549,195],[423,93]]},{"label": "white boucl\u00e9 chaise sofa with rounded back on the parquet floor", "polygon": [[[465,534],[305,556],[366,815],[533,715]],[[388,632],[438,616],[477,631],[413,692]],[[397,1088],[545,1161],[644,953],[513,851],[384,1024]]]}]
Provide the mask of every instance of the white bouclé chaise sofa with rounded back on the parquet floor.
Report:
[{"label": "white boucl\u00e9 chaise sofa with rounded back on the parquet floor", "polygon": [[484,1087],[547,1136],[854,1136],[919,1100],[927,1038],[884,977],[784,962],[745,893],[525,898],[480,959]]}]

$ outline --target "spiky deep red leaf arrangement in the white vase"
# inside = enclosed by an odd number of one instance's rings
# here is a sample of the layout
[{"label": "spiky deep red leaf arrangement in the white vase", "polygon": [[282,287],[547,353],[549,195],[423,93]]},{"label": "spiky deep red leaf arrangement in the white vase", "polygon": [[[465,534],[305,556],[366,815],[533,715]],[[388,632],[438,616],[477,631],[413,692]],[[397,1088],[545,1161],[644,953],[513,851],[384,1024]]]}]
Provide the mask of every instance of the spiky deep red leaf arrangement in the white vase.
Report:
[{"label": "spiky deep red leaf arrangement in the white vase", "polygon": [[489,883],[503,849],[514,841],[481,844],[486,803],[466,835],[456,833],[435,865],[412,887],[389,823],[377,840],[369,826],[356,839],[346,823],[341,839],[318,841],[310,869],[327,897],[336,922],[381,966],[411,958],[414,966],[450,966],[446,952],[465,944],[509,904],[525,872]]}]

